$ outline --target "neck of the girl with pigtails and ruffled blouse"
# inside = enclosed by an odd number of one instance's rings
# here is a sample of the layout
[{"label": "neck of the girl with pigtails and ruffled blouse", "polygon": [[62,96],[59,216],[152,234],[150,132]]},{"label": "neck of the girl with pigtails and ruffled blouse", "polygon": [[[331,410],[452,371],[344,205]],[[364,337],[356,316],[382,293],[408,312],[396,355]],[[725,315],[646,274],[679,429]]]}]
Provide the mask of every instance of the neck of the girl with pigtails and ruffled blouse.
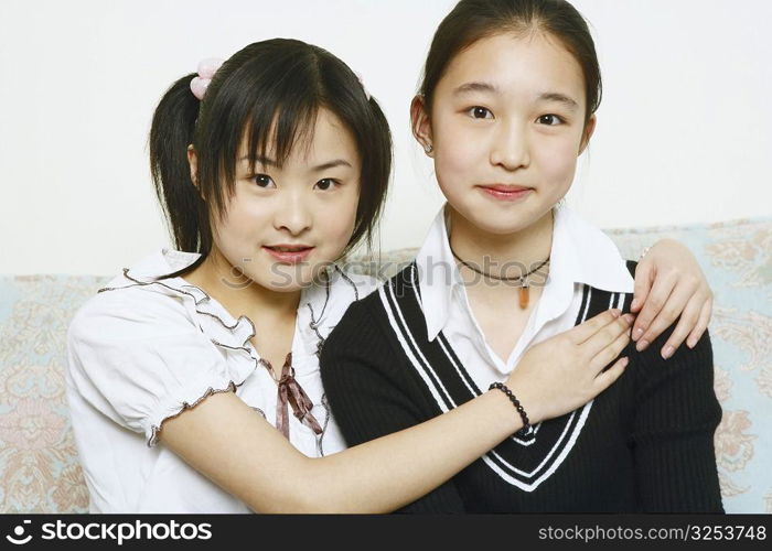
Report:
[{"label": "neck of the girl with pigtails and ruffled blouse", "polygon": [[253,282],[246,276],[236,277],[237,270],[214,247],[206,260],[184,277],[191,284],[202,288],[210,296],[223,304],[234,316],[246,315],[255,320],[260,316],[294,316],[300,303],[300,291],[277,292]]}]

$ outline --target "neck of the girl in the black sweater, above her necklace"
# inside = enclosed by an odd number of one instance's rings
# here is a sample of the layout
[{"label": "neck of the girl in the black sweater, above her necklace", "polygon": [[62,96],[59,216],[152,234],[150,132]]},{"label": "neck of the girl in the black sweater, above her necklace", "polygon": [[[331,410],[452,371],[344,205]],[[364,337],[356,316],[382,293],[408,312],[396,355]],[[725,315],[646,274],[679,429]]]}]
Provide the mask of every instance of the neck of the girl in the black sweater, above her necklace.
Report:
[{"label": "neck of the girl in the black sweater, above her necklace", "polygon": [[514,234],[491,234],[471,224],[452,206],[450,247],[486,273],[517,278],[544,261],[553,246],[553,212]]}]

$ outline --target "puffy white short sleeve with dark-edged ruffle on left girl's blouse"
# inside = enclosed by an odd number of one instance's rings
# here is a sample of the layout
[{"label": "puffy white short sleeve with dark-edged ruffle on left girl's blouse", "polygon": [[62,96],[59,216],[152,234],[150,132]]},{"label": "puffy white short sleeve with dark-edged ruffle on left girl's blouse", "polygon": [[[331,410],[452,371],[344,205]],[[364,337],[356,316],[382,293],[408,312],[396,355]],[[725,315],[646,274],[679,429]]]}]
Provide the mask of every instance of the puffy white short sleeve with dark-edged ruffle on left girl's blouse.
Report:
[{"label": "puffy white short sleeve with dark-edged ruffle on left girl's blouse", "polygon": [[126,288],[103,292],[67,332],[69,380],[94,408],[157,443],[164,420],[214,392],[233,391],[254,371],[248,356],[216,343],[184,296]]}]

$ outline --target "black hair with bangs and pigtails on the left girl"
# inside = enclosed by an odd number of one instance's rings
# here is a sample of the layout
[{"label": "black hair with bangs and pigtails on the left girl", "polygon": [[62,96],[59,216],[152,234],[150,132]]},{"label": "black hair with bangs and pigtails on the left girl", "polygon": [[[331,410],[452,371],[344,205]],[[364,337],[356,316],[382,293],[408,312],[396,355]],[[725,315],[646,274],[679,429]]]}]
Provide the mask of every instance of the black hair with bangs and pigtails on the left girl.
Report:
[{"label": "black hair with bangs and pigtails on the left girl", "polygon": [[[392,133],[375,99],[352,69],[330,52],[297,40],[249,44],[217,69],[203,100],[193,95],[195,74],[175,82],[158,105],[150,130],[150,169],[175,247],[201,257],[164,277],[200,266],[212,250],[213,216],[233,196],[237,155],[247,138],[254,166],[268,147],[279,166],[313,132],[319,109],[329,109],[352,133],[362,161],[360,202],[349,252],[369,246],[388,188]],[[187,147],[197,155],[191,179]]]}]

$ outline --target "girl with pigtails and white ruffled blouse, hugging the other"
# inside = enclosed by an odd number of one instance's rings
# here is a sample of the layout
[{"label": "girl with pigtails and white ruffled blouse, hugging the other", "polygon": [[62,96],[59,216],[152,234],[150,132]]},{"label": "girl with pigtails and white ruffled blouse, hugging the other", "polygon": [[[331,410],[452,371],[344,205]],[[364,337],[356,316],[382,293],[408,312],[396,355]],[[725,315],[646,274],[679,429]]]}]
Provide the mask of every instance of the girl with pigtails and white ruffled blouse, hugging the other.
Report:
[{"label": "girl with pigtails and white ruffled blouse, hugging the other", "polygon": [[[521,430],[496,391],[343,451],[318,355],[374,289],[331,262],[380,212],[386,120],[347,66],[302,42],[255,43],[200,73],[169,89],[151,130],[180,250],[125,269],[69,328],[90,509],[388,511]],[[555,342],[570,341],[565,355],[551,357],[550,342],[526,354],[506,382],[545,404],[532,406],[532,421],[611,385],[625,361],[601,370],[631,322],[610,305]]]}]

